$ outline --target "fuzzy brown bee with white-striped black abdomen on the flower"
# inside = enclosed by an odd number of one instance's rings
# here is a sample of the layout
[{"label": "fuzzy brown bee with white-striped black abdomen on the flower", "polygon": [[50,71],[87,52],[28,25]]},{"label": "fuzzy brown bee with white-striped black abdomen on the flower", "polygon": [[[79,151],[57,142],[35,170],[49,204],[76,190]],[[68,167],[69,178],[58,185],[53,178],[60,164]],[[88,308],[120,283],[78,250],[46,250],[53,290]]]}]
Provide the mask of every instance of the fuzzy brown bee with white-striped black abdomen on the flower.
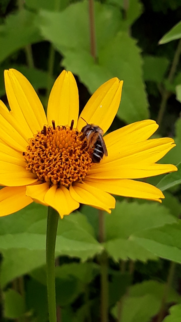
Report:
[{"label": "fuzzy brown bee with white-striped black abdomen on the flower", "polygon": [[[82,118],[85,122],[86,120]],[[87,122],[86,122],[87,123]],[[104,154],[107,156],[107,148],[103,138],[103,130],[98,125],[88,124],[85,125],[81,132],[83,133],[81,136],[81,141],[86,137],[89,147],[94,147],[94,151],[92,154],[92,160],[95,163],[99,163]]]}]

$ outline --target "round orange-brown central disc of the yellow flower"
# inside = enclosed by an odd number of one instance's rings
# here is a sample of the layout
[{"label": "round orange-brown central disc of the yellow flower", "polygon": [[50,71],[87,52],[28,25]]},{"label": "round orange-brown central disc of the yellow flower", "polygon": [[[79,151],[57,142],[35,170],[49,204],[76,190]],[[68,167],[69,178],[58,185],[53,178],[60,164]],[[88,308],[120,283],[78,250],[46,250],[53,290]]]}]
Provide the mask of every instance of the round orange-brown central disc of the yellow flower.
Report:
[{"label": "round orange-brown central disc of the yellow flower", "polygon": [[71,126],[44,126],[29,139],[27,151],[23,156],[26,169],[37,175],[42,182],[69,186],[80,182],[93,165],[87,139],[81,141],[82,132]]}]

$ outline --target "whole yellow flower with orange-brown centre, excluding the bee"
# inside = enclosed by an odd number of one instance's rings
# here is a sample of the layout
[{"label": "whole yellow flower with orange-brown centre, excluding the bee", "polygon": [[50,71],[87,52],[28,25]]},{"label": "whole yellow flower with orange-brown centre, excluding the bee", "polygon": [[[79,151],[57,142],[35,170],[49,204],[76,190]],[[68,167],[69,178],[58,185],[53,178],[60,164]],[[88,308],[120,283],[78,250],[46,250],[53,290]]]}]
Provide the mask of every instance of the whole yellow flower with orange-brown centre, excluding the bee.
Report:
[{"label": "whole yellow flower with orange-brown centre, excluding the bee", "polygon": [[168,137],[148,140],[158,128],[155,121],[135,122],[104,136],[108,156],[100,163],[93,163],[94,147],[88,147],[86,137],[82,140],[84,120],[104,133],[108,130],[122,84],[118,78],[104,83],[78,118],[76,81],[71,72],[62,71],[51,90],[46,118],[29,81],[19,71],[5,71],[11,111],[0,101],[0,185],[5,186],[0,190],[0,216],[33,200],[55,208],[61,218],[79,203],[111,213],[111,194],[161,202],[164,195],[158,188],[132,180],[177,170],[156,164],[175,144]]}]

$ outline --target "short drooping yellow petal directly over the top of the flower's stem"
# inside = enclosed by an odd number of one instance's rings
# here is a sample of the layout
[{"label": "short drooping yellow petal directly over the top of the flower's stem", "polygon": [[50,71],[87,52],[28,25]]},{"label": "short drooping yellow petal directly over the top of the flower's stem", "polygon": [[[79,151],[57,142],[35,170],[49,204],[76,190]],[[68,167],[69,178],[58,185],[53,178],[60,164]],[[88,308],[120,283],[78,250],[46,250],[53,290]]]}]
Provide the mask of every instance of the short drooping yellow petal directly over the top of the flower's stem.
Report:
[{"label": "short drooping yellow petal directly over the top of the flower's stem", "polygon": [[61,218],[79,207],[79,203],[71,197],[68,189],[63,185],[59,188],[53,185],[45,194],[44,201],[56,209]]}]

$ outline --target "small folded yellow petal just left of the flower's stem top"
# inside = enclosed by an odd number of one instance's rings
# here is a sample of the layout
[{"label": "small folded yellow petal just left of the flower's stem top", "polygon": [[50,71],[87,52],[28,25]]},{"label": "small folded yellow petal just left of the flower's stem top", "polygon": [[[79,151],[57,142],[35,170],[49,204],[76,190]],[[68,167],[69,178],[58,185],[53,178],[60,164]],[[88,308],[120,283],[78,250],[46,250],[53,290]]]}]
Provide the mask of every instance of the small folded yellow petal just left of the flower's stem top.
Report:
[{"label": "small folded yellow petal just left of the flower's stem top", "polygon": [[27,185],[26,195],[30,196],[35,202],[47,206],[48,204],[44,202],[44,196],[49,190],[49,187],[49,182],[37,182],[37,185]]}]

